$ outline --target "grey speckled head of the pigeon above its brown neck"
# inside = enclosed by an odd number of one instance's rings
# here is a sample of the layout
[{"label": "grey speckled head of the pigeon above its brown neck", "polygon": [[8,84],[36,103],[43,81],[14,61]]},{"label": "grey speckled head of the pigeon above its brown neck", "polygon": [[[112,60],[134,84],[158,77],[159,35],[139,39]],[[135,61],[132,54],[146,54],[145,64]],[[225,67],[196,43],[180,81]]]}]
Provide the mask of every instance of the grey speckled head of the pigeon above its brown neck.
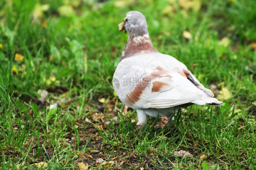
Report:
[{"label": "grey speckled head of the pigeon above its brown neck", "polygon": [[148,34],[146,18],[141,12],[127,12],[124,21],[126,21],[124,28],[129,36],[143,36],[144,34]]}]

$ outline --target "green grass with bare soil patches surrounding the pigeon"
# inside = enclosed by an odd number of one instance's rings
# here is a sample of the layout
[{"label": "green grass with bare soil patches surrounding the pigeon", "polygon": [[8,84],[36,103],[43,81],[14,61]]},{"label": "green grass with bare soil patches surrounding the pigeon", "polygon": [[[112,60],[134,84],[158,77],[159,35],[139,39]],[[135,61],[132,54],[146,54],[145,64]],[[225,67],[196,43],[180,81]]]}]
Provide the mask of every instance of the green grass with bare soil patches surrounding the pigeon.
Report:
[{"label": "green grass with bare soil patches surrounding the pigeon", "polygon": [[[194,2],[1,1],[0,169],[256,169],[255,2],[202,0],[198,10]],[[192,105],[170,125],[149,118],[135,130],[136,112],[122,114],[104,87],[128,38],[117,25],[130,10],[145,15],[157,50],[215,85],[225,106]],[[49,93],[45,104],[39,89]]]}]

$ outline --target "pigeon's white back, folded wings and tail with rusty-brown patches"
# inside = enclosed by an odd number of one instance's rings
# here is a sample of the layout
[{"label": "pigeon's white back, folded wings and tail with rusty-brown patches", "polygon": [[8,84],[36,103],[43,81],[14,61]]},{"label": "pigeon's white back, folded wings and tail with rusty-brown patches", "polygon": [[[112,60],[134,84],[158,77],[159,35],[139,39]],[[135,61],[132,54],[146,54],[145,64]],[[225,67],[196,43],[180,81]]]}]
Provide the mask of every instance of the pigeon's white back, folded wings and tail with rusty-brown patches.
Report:
[{"label": "pigeon's white back, folded wings and tail with rusty-brown patches", "polygon": [[117,94],[127,106],[141,108],[167,108],[186,103],[203,105],[222,104],[212,98],[186,66],[169,55],[142,54],[121,61],[114,74],[119,80],[140,79],[137,85],[127,89],[121,83]]}]

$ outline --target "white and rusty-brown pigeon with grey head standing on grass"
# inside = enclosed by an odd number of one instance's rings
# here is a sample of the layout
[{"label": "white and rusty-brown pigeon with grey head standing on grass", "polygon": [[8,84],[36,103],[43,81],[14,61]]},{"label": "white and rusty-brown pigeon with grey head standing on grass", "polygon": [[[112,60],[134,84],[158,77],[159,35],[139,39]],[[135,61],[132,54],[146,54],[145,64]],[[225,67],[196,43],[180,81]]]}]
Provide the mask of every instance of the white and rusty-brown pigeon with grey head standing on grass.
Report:
[{"label": "white and rusty-brown pigeon with grey head standing on grass", "polygon": [[183,63],[153,47],[141,12],[128,12],[118,28],[129,37],[113,75],[113,87],[121,102],[136,110],[137,125],[142,126],[147,116],[170,120],[177,108],[191,104],[224,105]]}]

